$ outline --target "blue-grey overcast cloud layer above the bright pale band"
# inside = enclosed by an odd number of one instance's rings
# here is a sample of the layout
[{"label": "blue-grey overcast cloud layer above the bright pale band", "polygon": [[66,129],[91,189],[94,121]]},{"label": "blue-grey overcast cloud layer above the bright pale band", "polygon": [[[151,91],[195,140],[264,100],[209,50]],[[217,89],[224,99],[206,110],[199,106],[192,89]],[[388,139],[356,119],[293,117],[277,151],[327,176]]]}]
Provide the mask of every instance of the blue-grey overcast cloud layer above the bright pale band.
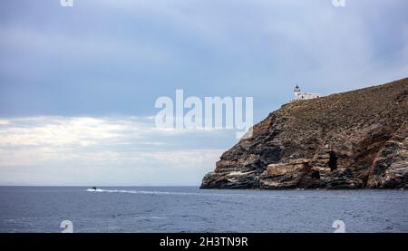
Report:
[{"label": "blue-grey overcast cloud layer above the bright pale band", "polygon": [[259,120],[296,83],[332,93],[405,77],[406,1],[347,2],[9,1],[0,113],[145,116],[184,87],[254,96]]}]

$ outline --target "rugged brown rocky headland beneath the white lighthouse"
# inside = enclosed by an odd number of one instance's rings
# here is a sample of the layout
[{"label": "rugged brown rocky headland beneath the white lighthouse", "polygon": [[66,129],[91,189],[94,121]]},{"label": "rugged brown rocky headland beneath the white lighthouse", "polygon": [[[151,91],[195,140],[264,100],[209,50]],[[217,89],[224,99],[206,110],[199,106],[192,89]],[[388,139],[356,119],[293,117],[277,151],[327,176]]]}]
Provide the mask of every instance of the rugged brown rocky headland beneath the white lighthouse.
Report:
[{"label": "rugged brown rocky headland beneath the white lighthouse", "polygon": [[408,188],[408,78],[284,105],[201,188]]}]

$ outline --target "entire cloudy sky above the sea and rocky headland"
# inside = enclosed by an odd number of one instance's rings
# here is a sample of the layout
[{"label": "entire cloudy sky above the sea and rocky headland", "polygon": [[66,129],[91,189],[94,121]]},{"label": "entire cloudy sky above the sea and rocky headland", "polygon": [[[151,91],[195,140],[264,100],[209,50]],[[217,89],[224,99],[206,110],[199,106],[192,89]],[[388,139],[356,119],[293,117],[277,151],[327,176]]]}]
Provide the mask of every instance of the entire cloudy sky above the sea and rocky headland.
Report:
[{"label": "entire cloudy sky above the sea and rocky headland", "polygon": [[161,130],[160,96],[330,94],[407,77],[406,0],[5,0],[0,185],[199,186],[231,130]]}]

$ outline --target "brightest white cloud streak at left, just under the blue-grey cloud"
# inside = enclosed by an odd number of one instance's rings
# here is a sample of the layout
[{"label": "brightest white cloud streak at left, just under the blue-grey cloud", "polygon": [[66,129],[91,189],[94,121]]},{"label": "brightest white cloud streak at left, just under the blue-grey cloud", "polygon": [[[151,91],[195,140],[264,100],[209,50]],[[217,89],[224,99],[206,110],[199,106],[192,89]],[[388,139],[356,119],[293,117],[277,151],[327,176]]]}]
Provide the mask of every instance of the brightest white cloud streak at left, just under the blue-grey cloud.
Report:
[{"label": "brightest white cloud streak at left, just under the blue-grey cloud", "polygon": [[0,130],[0,147],[71,147],[121,144],[151,131],[146,121],[103,120],[91,117],[33,117],[8,119]]}]

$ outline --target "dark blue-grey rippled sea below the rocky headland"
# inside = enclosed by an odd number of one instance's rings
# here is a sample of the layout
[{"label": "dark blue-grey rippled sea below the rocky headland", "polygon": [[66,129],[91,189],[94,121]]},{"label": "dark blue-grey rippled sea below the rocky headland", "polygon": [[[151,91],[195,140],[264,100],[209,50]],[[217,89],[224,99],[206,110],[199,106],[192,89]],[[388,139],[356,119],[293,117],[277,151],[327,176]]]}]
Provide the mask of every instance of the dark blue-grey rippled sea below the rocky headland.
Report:
[{"label": "dark blue-grey rippled sea below the rocky headland", "polygon": [[408,232],[408,191],[0,187],[0,232]]}]

